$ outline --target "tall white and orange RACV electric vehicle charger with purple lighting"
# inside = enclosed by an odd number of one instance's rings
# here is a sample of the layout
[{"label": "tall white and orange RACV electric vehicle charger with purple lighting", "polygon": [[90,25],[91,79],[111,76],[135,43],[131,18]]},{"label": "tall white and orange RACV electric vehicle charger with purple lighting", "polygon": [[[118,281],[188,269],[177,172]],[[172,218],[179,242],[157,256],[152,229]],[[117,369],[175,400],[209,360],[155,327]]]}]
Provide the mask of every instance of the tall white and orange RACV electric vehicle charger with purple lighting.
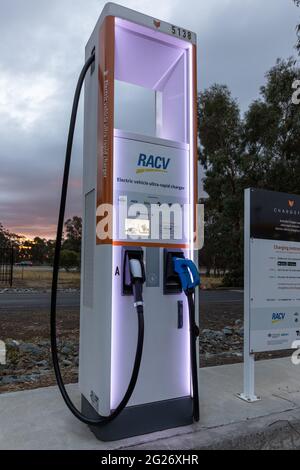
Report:
[{"label": "tall white and orange RACV electric vehicle charger with purple lighting", "polygon": [[79,388],[116,440],[199,419],[196,35],[108,3],[86,61]]}]

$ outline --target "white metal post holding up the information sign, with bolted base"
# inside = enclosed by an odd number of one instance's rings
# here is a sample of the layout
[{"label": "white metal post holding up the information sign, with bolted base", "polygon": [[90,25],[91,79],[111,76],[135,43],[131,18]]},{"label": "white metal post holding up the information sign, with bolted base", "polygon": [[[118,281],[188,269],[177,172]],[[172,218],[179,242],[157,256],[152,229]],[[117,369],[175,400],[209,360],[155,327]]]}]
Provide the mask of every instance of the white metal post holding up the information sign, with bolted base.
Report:
[{"label": "white metal post holding up the information sign, with bolted base", "polygon": [[255,395],[255,355],[250,351],[250,197],[251,189],[244,193],[244,391],[238,394],[242,400],[253,403],[260,398]]}]

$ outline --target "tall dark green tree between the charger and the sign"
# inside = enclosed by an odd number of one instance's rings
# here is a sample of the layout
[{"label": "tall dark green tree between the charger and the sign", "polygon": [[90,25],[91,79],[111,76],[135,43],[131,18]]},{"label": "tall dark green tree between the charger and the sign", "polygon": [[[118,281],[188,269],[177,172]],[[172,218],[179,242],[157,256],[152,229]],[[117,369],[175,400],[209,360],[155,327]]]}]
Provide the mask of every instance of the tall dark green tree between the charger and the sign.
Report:
[{"label": "tall dark green tree between the charger and the sign", "polygon": [[[206,175],[204,189],[205,250],[214,270],[230,273],[226,282],[242,282],[241,166],[243,128],[239,106],[225,85],[213,85],[198,100],[200,161]],[[228,277],[228,276],[227,276]]]}]

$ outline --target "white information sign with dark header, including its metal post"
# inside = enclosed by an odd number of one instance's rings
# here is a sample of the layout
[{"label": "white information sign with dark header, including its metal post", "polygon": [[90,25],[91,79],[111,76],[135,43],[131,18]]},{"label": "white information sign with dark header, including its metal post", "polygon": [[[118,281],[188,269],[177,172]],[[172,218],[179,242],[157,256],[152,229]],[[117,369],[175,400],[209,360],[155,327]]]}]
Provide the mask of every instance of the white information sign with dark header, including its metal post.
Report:
[{"label": "white information sign with dark header, including its metal post", "polygon": [[244,227],[244,392],[255,394],[255,353],[300,340],[300,196],[246,189]]}]

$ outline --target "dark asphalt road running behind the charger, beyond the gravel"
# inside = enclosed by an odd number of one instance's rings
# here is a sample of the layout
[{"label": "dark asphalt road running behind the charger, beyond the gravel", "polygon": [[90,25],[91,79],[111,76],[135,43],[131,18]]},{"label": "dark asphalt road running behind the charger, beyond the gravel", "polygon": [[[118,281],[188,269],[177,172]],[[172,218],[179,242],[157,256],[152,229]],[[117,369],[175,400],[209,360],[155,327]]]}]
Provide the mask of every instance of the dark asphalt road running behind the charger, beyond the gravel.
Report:
[{"label": "dark asphalt road running behind the charger, beyond the gravel", "polygon": [[[64,292],[58,294],[57,305],[62,308],[78,307],[79,306],[79,293]],[[201,291],[200,304],[214,304],[214,303],[242,303],[242,291]],[[49,293],[3,293],[0,294],[0,311],[14,308],[49,308],[50,294]]]}]

